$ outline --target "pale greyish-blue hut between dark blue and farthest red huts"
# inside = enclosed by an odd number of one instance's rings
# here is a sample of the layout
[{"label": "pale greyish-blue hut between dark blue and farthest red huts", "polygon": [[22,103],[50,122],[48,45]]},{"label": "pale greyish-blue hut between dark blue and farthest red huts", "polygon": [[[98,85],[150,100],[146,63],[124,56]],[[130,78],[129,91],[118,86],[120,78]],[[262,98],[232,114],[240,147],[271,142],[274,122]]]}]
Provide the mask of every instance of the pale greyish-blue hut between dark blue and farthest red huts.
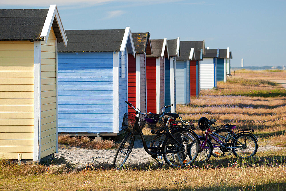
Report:
[{"label": "pale greyish-blue hut between dark blue and farthest red huts", "polygon": [[180,42],[180,56],[176,58],[176,103],[190,103],[190,61],[195,60],[194,48],[188,41]]}]

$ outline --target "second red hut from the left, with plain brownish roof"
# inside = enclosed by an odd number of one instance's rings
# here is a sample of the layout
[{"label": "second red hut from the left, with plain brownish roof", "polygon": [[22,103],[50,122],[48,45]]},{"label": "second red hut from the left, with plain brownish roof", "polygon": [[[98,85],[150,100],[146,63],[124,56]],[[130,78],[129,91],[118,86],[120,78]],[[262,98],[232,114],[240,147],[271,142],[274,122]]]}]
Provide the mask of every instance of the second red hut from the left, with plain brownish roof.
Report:
[{"label": "second red hut from the left, with plain brownish roof", "polygon": [[165,58],[169,58],[167,38],[151,40],[152,54],[146,55],[147,108],[160,113],[165,105]]}]

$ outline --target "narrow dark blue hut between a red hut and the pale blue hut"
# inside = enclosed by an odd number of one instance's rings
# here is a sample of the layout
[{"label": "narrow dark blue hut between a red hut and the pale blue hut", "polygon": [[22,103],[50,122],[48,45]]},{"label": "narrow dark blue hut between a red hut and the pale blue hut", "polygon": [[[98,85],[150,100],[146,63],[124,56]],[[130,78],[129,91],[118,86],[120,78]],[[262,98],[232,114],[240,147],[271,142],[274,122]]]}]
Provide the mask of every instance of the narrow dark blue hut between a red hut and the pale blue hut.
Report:
[{"label": "narrow dark blue hut between a red hut and the pale blue hut", "polygon": [[166,112],[176,111],[176,58],[180,53],[180,37],[167,40],[169,58],[165,58],[165,105],[173,104]]}]

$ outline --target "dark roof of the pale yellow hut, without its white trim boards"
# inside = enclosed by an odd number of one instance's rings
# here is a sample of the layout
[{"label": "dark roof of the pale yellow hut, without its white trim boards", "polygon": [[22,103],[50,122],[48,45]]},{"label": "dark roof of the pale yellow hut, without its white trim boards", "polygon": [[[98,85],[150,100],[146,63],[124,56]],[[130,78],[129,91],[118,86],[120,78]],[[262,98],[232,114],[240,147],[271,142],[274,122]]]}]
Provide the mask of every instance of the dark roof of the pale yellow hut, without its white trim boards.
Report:
[{"label": "dark roof of the pale yellow hut, without its white trim boards", "polygon": [[[0,9],[0,40],[44,40],[41,31],[49,9]],[[53,29],[63,42],[56,19]]]}]

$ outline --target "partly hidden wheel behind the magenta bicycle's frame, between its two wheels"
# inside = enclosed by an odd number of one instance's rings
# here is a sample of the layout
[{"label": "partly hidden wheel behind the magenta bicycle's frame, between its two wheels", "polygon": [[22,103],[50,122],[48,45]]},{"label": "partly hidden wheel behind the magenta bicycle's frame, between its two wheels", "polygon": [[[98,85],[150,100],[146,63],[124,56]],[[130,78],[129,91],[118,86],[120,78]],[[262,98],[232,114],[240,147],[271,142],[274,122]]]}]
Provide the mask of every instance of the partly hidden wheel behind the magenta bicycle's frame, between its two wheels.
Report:
[{"label": "partly hidden wheel behind the magenta bicycle's frame, between its two wheels", "polygon": [[[235,133],[233,131],[231,131],[230,129],[226,129],[226,128],[223,128],[223,129],[217,129],[216,131],[214,131],[215,133],[221,135],[222,137],[227,137],[227,134],[230,133],[231,136],[235,136]],[[216,138],[218,138],[220,141],[222,141],[223,143],[225,142],[225,139],[217,136],[217,135],[214,135],[212,134],[213,136],[215,136]],[[229,143],[231,143],[231,140],[233,139],[232,137],[229,137],[230,141]],[[219,143],[217,143],[217,141],[215,141],[214,139],[212,139],[211,137],[209,138],[209,140],[211,141],[212,143],[212,146],[213,146],[213,151],[212,151],[212,155],[214,157],[223,157],[222,154],[224,153],[222,150],[221,150],[221,145]],[[230,151],[227,151],[225,152],[225,155],[231,155],[231,150]],[[225,156],[224,155],[224,156]]]}]

